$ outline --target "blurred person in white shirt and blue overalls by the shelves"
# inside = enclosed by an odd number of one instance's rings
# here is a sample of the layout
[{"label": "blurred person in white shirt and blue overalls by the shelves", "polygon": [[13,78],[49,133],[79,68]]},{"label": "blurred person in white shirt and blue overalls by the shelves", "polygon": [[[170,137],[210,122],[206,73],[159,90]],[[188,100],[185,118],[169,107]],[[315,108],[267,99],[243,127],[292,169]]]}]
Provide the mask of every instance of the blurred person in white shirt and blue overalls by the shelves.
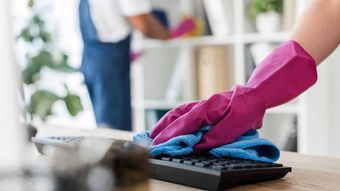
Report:
[{"label": "blurred person in white shirt and blue overalls by the shelves", "polygon": [[132,128],[131,31],[163,40],[170,36],[151,11],[149,0],[80,0],[81,71],[100,126]]}]

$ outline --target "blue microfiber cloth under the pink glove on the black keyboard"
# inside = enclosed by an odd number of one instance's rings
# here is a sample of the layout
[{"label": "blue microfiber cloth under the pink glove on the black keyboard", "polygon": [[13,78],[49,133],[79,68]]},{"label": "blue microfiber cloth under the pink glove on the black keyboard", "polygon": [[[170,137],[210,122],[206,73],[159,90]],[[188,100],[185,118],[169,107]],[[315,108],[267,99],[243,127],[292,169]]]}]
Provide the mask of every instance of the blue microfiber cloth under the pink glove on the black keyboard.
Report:
[{"label": "blue microfiber cloth under the pink glove on the black keyboard", "polygon": [[[200,142],[204,133],[210,129],[211,126],[206,126],[195,133],[174,137],[159,145],[151,145],[152,139],[148,132],[136,134],[133,141],[148,147],[150,155],[154,157],[185,156],[193,152],[194,145]],[[275,162],[280,157],[279,149],[272,142],[259,138],[256,130],[250,130],[234,142],[213,148],[208,153],[215,157],[234,157],[262,162]]]}]

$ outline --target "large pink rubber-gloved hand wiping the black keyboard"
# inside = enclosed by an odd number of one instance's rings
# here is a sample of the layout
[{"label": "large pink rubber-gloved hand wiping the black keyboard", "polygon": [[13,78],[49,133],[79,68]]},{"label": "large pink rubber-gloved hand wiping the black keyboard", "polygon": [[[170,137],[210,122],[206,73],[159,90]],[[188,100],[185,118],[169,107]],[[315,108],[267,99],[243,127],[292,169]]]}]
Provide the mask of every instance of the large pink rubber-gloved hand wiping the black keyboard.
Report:
[{"label": "large pink rubber-gloved hand wiping the black keyboard", "polygon": [[192,133],[205,125],[213,128],[195,146],[195,153],[230,143],[248,130],[260,128],[266,109],[292,100],[316,80],[313,58],[297,42],[288,41],[255,69],[246,85],[167,113],[150,133],[152,144]]}]

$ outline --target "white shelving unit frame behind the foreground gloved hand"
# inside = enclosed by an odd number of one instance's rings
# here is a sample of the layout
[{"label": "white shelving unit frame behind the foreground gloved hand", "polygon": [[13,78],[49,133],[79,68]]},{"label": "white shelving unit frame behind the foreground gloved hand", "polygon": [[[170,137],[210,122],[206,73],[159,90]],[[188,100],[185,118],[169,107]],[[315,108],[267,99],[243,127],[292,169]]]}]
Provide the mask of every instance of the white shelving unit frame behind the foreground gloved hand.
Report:
[{"label": "white shelving unit frame behind the foreground gloved hand", "polygon": [[[194,50],[199,46],[205,45],[222,45],[228,46],[232,49],[232,68],[233,71],[231,75],[233,76],[233,83],[236,84],[245,84],[246,82],[246,61],[245,61],[245,49],[247,45],[254,43],[254,42],[269,42],[269,43],[281,43],[289,38],[288,32],[278,32],[273,34],[259,34],[254,32],[252,29],[249,29],[247,26],[247,17],[245,14],[246,10],[246,3],[247,0],[224,0],[228,1],[228,5],[233,8],[233,32],[232,34],[226,37],[216,37],[216,36],[202,36],[202,37],[194,37],[194,38],[187,38],[187,39],[175,39],[170,41],[159,41],[159,40],[151,40],[151,39],[144,39],[140,43],[146,52],[146,56],[153,54],[158,54],[160,50],[164,50],[165,52],[168,50],[174,51],[177,50],[178,52],[186,52],[186,57],[188,58],[188,62],[186,63],[187,66],[185,73],[187,76],[184,78],[183,83],[187,87],[186,89],[194,91],[192,87],[195,87],[195,70],[193,60],[195,57]],[[173,55],[170,55],[169,58],[173,59]],[[154,60],[155,66],[161,65],[162,62],[166,62],[168,57],[159,56],[158,59]],[[145,110],[148,109],[171,109],[177,107],[178,105],[187,102],[193,101],[191,97],[192,93],[186,92],[183,96],[184,99],[180,101],[166,101],[164,97],[161,98],[148,98],[145,96],[147,92],[145,87],[148,85],[145,83],[145,77],[150,78],[152,77],[152,72],[155,71],[146,71],[147,69],[144,67],[147,61],[145,59],[141,59],[135,64],[134,73],[137,74],[134,79],[134,83],[136,86],[139,86],[138,89],[134,90],[134,122],[135,124],[135,131],[145,130]],[[147,62],[147,64],[152,64]],[[158,66],[157,66],[158,67]],[[171,72],[168,71],[168,72]],[[158,79],[154,79],[157,81]],[[149,80],[150,81],[150,80]],[[151,80],[152,81],[152,80]],[[295,100],[294,102],[287,103],[285,105],[269,109],[266,115],[294,115],[299,117],[303,109],[300,108],[299,100]],[[301,119],[298,119],[298,123],[301,123]],[[305,131],[301,130],[302,128],[298,124],[298,131]],[[275,131],[275,128],[271,128],[272,131]],[[298,139],[303,138],[299,136]],[[304,141],[299,140],[299,143],[303,143]],[[301,149],[304,145],[299,145],[299,149]]]}]

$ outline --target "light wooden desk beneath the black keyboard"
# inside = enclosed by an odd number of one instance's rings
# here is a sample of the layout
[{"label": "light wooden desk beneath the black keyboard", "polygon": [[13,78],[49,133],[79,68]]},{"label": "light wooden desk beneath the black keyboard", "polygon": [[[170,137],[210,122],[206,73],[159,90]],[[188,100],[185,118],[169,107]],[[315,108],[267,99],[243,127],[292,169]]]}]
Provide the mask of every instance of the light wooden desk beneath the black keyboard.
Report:
[{"label": "light wooden desk beneath the black keyboard", "polygon": [[[65,127],[40,127],[38,136],[75,135],[100,136],[131,140],[132,134],[124,131],[96,129],[80,130]],[[340,159],[281,152],[279,163],[293,168],[283,179],[235,187],[230,190],[339,190]],[[199,190],[169,182],[151,180],[152,191],[194,191]]]}]

